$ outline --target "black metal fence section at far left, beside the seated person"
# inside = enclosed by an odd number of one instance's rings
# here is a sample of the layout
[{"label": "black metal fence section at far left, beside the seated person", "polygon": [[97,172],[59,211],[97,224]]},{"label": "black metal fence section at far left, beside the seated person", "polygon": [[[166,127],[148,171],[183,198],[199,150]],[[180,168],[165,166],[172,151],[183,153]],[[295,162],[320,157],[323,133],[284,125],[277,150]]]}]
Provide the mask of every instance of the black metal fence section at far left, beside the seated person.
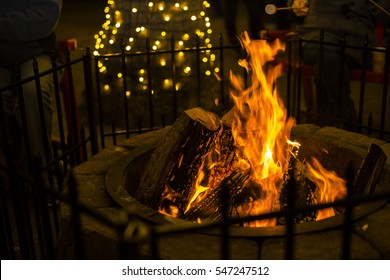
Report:
[{"label": "black metal fence section at far left, beside the seated person", "polygon": [[[3,98],[0,98],[0,192],[1,192],[1,256],[4,259],[47,259],[53,258],[57,236],[60,232],[59,195],[69,170],[87,160],[87,144],[91,146],[89,154],[97,153],[95,125],[91,106],[88,107],[89,135],[77,122],[77,107],[73,88],[73,66],[84,66],[85,95],[88,103],[92,92],[91,56],[86,53],[82,58],[71,60],[70,53],[66,61],[58,63],[53,54],[52,68],[40,71],[36,60],[31,67],[34,75],[21,77],[19,65],[15,66],[14,83],[0,89],[0,93],[8,92],[14,96],[15,104],[20,108],[20,123],[10,124],[6,118]],[[89,72],[88,72],[89,71]],[[42,136],[45,154],[33,154],[30,148],[27,116],[24,104],[24,85],[33,83],[38,96],[41,96],[40,78],[50,75],[54,81],[52,96],[53,108],[56,112],[53,122],[56,132],[51,143],[45,141],[45,112],[42,98],[38,98],[41,129],[34,128]],[[28,94],[28,93],[27,93]],[[65,109],[66,113],[63,111]],[[21,124],[21,125],[20,125]],[[21,127],[19,127],[21,126]],[[67,128],[67,129],[66,129]],[[21,130],[18,138],[10,135]],[[92,136],[92,137],[91,137]],[[19,142],[21,144],[15,143]],[[15,142],[14,142],[15,141]],[[25,151],[20,155],[21,151]],[[43,160],[45,159],[45,161]],[[27,169],[24,162],[28,163]],[[45,162],[45,163],[44,163]]]}]

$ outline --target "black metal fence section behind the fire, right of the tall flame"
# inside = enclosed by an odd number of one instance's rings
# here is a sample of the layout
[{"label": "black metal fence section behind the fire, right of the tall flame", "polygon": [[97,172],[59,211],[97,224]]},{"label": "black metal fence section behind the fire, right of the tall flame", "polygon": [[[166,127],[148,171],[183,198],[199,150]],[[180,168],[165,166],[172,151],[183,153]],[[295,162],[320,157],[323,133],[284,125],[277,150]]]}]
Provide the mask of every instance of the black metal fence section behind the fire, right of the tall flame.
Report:
[{"label": "black metal fence section behind the fire, right of the tall flame", "polygon": [[[386,47],[369,47],[367,38],[361,42],[360,46],[348,45],[347,36],[344,36],[338,43],[326,42],[323,31],[319,34],[319,40],[298,38],[295,34],[289,36],[286,70],[289,76],[287,106],[297,122],[316,123],[321,126],[327,123],[331,126],[388,140],[390,124],[386,121],[386,115],[390,108],[388,100],[390,41],[387,41]],[[315,46],[318,50],[318,75],[326,75],[324,71],[329,71],[323,66],[326,49],[331,47],[332,51],[339,52],[340,61],[334,65],[333,71],[337,71],[341,76],[339,91],[343,90],[344,80],[349,80],[352,85],[351,98],[355,99],[352,106],[356,107],[356,118],[321,115],[318,111],[318,107],[321,106],[318,97],[325,93],[315,92],[313,66],[305,63],[303,59],[305,45],[306,48],[310,45]],[[346,61],[351,61],[348,58],[349,52],[359,53],[360,59],[350,63],[348,65],[349,73],[344,74],[343,68]],[[377,61],[376,57],[380,57],[380,61]],[[338,92],[338,95],[340,96],[341,92]],[[341,104],[343,102],[341,97],[338,98],[337,102],[336,107],[338,108],[335,110],[346,110],[346,106],[343,107]],[[371,106],[369,106],[370,103]]]}]

